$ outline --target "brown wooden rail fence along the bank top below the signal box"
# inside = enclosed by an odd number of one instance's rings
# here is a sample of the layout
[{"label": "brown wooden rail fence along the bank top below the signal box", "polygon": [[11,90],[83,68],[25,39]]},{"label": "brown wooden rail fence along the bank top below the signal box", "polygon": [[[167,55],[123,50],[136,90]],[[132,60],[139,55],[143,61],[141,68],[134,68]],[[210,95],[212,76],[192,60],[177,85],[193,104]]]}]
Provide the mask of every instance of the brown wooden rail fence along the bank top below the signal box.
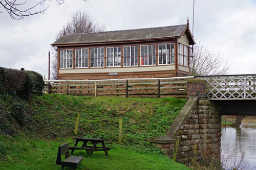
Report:
[{"label": "brown wooden rail fence along the bank top below the signal box", "polygon": [[186,98],[187,79],[194,77],[159,79],[110,80],[48,80],[45,93],[92,96],[148,96]]}]

